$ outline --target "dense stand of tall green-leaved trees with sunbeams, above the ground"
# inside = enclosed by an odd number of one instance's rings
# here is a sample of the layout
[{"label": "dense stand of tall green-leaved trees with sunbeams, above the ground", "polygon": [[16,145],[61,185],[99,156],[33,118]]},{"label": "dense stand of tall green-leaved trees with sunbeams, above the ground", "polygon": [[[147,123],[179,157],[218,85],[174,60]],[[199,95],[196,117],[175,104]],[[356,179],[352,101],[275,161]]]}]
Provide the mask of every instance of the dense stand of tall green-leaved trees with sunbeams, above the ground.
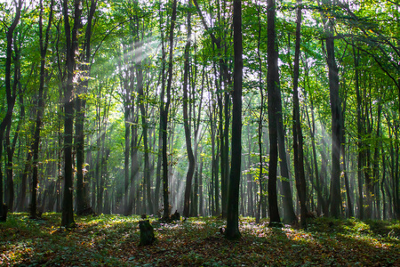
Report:
[{"label": "dense stand of tall green-leaved trees with sunbeams, above the ground", "polygon": [[226,217],[241,166],[239,214],[400,216],[398,5],[243,2],[239,116],[230,2],[39,3],[0,5],[12,211]]}]

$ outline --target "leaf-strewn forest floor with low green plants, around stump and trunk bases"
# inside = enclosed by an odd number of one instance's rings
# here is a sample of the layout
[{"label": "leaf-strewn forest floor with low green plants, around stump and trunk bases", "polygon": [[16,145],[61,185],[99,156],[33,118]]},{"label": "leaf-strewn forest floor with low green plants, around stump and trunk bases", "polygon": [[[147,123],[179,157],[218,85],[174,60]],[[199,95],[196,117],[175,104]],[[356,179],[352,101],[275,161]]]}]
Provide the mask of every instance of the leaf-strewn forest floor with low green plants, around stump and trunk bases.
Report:
[{"label": "leaf-strewn forest floor with low green plants, around stump and trunk bases", "polygon": [[10,214],[0,223],[0,266],[400,266],[400,222],[317,218],[308,230],[269,228],[240,219],[242,238],[220,234],[215,217],[158,223],[156,243],[139,247],[139,216],[76,217],[60,228],[60,214]]}]

